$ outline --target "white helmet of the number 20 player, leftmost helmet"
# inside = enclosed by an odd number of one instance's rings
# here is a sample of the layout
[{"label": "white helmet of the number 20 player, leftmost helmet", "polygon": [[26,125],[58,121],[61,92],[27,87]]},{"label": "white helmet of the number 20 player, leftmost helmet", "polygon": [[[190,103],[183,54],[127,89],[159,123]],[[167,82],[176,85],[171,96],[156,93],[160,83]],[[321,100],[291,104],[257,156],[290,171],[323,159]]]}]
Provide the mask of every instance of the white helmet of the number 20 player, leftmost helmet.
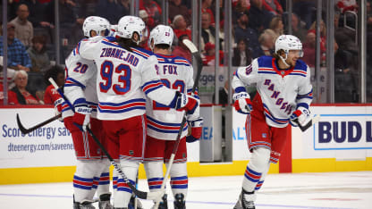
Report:
[{"label": "white helmet of the number 20 player, leftmost helmet", "polygon": [[105,31],[106,36],[110,31],[110,22],[105,18],[98,16],[89,16],[85,19],[82,25],[82,31],[85,37],[90,38],[90,30],[95,30],[97,35],[100,36],[102,31]]}]

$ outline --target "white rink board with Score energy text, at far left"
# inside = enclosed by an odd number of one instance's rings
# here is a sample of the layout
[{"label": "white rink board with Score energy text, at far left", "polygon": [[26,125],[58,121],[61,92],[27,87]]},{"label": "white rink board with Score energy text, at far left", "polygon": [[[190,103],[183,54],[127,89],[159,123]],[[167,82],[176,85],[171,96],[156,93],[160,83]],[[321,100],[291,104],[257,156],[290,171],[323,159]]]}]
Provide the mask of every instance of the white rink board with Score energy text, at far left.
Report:
[{"label": "white rink board with Score energy text, at far left", "polygon": [[[29,134],[16,122],[19,113],[26,129],[54,116],[52,108],[0,108],[0,168],[69,166],[75,164],[71,133],[63,122],[53,121]],[[4,120],[5,119],[5,120]]]}]

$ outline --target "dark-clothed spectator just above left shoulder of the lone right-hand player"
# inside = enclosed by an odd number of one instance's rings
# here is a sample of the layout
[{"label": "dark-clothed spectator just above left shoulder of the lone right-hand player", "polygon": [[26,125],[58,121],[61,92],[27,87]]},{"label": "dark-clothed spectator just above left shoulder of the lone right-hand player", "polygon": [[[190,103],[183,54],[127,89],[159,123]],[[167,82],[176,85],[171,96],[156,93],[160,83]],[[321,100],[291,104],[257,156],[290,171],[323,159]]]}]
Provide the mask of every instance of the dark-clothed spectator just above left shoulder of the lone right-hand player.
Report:
[{"label": "dark-clothed spectator just above left shoulder of the lone right-hand player", "polygon": [[239,39],[233,48],[232,66],[248,66],[252,62],[252,51],[246,39]]}]

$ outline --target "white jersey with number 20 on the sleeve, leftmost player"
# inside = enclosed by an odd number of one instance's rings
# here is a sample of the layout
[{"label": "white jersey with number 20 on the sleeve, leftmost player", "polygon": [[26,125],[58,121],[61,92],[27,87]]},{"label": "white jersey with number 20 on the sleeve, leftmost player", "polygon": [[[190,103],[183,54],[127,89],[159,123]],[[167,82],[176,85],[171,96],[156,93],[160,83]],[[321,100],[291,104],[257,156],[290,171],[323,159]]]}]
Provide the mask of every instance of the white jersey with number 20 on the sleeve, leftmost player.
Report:
[{"label": "white jersey with number 20 on the sleeve, leftmost player", "polygon": [[[101,36],[84,38],[81,41],[99,41]],[[86,103],[92,108],[91,117],[97,118],[97,67],[91,60],[78,53],[79,44],[65,60],[64,95],[72,105]]]}]

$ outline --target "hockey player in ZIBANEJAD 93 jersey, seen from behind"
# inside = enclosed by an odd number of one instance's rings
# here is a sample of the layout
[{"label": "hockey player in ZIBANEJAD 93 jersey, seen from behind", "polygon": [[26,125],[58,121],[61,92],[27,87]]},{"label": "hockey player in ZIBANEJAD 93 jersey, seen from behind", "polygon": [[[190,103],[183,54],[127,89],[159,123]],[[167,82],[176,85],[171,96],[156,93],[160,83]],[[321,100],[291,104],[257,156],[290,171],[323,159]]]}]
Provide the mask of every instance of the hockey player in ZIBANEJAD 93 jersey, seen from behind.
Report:
[{"label": "hockey player in ZIBANEJAD 93 jersey, seen from behind", "polygon": [[[143,160],[146,139],[146,99],[166,106],[195,112],[198,99],[166,88],[161,82],[156,56],[138,47],[145,23],[138,17],[124,16],[118,22],[116,38],[81,41],[81,57],[97,65],[97,118],[103,121],[108,152],[134,184]],[[81,110],[81,111],[80,111]],[[89,124],[89,107],[78,108],[80,125]],[[127,208],[131,188],[118,178],[114,208]]]}]

